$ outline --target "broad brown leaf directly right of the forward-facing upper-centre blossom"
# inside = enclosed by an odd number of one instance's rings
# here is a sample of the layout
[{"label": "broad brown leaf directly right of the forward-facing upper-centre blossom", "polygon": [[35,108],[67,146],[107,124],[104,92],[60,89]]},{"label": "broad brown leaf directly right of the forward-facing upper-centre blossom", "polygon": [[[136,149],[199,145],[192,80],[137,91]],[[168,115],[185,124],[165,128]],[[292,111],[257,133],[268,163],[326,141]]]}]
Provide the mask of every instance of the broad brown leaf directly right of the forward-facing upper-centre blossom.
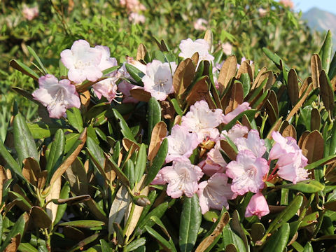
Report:
[{"label": "broad brown leaf directly right of the forward-facing upper-centre blossom", "polygon": [[[193,55],[194,57],[195,55]],[[192,83],[195,76],[196,66],[193,59],[185,59],[177,66],[173,76],[174,94],[183,94]]]}]

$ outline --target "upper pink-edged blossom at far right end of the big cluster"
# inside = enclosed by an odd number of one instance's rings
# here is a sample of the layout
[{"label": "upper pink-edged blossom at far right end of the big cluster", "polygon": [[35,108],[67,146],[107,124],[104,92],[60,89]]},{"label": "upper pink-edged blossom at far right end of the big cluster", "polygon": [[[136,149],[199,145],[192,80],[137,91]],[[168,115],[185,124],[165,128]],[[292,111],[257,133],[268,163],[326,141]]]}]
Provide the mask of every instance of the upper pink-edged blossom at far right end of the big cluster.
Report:
[{"label": "upper pink-edged blossom at far right end of the big cluster", "polygon": [[295,153],[300,150],[296,140],[293,137],[282,137],[279,132],[272,132],[272,138],[275,141],[274,146],[269,152],[269,159],[275,160],[288,153]]}]

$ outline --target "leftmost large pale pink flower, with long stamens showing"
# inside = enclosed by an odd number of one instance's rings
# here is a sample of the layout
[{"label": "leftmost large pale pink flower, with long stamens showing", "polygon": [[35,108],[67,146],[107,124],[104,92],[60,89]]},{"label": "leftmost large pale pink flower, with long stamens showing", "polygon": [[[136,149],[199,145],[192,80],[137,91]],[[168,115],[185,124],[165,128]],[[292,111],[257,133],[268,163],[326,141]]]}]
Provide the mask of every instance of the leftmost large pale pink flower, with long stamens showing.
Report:
[{"label": "leftmost large pale pink flower, with long stamens showing", "polygon": [[39,87],[32,94],[34,99],[46,106],[50,118],[66,117],[66,109],[79,108],[80,100],[76,87],[69,80],[57,80],[51,74],[38,79]]}]

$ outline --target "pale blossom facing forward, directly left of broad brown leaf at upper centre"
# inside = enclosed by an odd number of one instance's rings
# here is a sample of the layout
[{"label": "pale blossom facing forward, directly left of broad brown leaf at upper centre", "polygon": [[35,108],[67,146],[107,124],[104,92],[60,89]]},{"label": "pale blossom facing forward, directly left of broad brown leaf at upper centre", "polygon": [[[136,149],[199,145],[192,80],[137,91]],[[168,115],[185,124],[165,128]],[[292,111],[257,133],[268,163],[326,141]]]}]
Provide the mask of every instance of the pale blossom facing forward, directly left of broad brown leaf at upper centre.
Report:
[{"label": "pale blossom facing forward, directly left of broad brown leaf at upper centre", "polygon": [[141,78],[144,83],[144,90],[151,93],[158,101],[165,101],[168,94],[174,92],[173,74],[176,70],[176,63],[162,63],[154,59],[146,65],[146,75]]}]

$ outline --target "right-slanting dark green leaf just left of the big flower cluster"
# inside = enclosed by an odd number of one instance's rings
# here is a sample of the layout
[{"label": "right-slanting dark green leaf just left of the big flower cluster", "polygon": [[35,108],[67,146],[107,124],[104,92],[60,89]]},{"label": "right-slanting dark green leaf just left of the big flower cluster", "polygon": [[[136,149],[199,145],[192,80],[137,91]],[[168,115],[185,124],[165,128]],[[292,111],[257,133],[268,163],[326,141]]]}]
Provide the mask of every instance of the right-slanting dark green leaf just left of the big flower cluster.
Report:
[{"label": "right-slanting dark green leaf just left of the big flower cluster", "polygon": [[148,186],[153,181],[153,179],[155,179],[155,176],[162,168],[162,165],[165,164],[167,153],[168,153],[168,139],[166,138],[163,139],[159,151],[153,160],[153,164],[148,169],[148,174],[144,183],[145,186]]}]

